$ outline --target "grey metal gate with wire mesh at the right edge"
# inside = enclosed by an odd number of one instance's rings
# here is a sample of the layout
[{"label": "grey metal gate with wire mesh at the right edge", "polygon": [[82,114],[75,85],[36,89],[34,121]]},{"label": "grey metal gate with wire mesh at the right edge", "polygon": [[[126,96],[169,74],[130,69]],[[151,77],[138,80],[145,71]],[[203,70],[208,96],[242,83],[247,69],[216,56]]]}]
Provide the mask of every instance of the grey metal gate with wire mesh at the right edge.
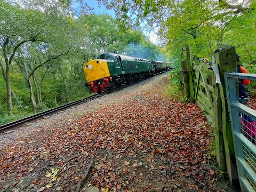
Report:
[{"label": "grey metal gate with wire mesh at the right edge", "polygon": [[256,111],[243,105],[238,98],[239,79],[256,80],[256,74],[225,73],[225,83],[238,177],[242,191],[256,191]]}]

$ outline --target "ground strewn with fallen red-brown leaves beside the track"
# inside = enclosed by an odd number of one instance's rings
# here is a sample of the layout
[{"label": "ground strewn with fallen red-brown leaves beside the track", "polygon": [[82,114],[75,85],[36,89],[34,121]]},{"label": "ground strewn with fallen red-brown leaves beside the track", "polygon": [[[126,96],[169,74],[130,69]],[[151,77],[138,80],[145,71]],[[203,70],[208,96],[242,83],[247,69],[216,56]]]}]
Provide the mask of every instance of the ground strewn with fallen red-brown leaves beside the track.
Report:
[{"label": "ground strewn with fallen red-brown leaves beside the track", "polygon": [[163,97],[166,82],[13,142],[0,153],[0,190],[75,191],[93,159],[82,191],[231,191],[209,150],[211,126],[195,103]]}]

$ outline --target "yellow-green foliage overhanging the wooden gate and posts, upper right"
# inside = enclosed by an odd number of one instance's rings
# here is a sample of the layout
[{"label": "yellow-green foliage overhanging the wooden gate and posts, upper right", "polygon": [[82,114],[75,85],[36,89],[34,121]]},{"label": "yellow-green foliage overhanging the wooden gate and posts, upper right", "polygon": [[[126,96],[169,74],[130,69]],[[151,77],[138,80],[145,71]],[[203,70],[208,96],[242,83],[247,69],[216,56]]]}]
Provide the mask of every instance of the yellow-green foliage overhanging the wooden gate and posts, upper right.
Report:
[{"label": "yellow-green foliage overhanging the wooden gate and posts, upper right", "polygon": [[206,58],[220,44],[229,44],[236,46],[246,63],[255,63],[255,1],[112,0],[109,6],[119,19],[134,14],[134,23],[140,25],[145,19],[149,28],[157,26],[162,45],[173,57],[180,58],[181,48],[187,44],[192,47],[192,55]]}]

